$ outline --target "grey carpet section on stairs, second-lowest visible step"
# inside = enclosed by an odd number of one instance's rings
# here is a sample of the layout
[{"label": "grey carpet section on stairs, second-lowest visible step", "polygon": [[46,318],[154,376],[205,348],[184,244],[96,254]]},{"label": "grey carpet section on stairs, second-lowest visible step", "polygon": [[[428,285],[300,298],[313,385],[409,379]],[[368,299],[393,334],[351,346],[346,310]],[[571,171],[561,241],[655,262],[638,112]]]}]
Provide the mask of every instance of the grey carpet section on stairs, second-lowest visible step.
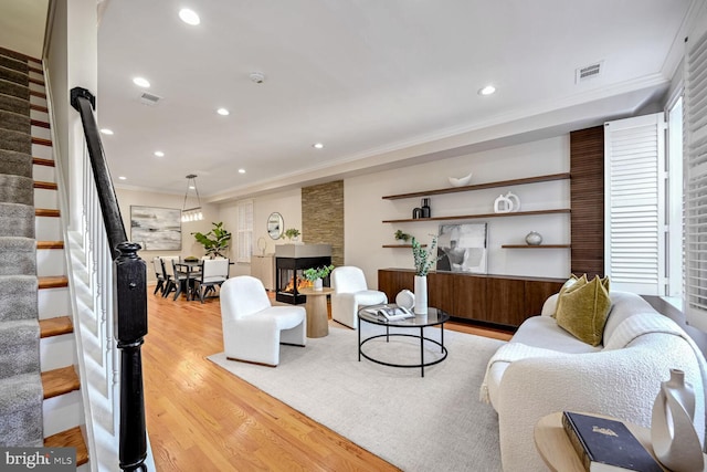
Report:
[{"label": "grey carpet section on stairs, second-lowest visible step", "polygon": [[39,336],[36,319],[0,323],[0,379],[40,369]]}]

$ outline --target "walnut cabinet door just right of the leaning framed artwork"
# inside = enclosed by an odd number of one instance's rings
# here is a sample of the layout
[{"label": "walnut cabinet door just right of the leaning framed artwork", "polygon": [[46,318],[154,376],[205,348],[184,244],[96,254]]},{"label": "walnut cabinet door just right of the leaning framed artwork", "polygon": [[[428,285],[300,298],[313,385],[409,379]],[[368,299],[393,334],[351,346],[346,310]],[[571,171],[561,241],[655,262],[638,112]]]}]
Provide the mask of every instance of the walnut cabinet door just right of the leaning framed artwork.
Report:
[{"label": "walnut cabinet door just right of the leaning framed artwork", "polygon": [[486,286],[486,321],[518,326],[525,319],[525,281],[489,277]]}]

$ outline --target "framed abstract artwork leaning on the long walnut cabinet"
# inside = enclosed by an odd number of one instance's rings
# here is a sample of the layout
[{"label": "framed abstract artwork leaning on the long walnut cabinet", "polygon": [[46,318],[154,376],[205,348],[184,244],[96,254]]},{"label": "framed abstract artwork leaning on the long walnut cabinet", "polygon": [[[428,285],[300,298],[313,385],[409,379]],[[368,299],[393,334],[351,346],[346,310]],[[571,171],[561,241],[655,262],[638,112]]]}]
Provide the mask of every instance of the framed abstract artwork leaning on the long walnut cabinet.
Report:
[{"label": "framed abstract artwork leaning on the long walnut cabinet", "polygon": [[485,274],[486,223],[440,224],[437,271]]}]

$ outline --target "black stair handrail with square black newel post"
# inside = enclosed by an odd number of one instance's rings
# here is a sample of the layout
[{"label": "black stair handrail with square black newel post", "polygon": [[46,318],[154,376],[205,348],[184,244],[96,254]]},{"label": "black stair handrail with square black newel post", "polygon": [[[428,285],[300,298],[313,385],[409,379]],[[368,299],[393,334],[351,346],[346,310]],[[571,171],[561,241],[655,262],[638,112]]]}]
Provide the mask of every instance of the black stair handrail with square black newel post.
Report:
[{"label": "black stair handrail with square black newel post", "polygon": [[[125,471],[146,470],[147,433],[140,349],[147,334],[147,268],[137,254],[140,245],[128,242],[123,224],[93,114],[95,97],[87,90],[75,87],[71,91],[71,105],[81,115],[96,195],[113,255],[114,323],[117,348],[120,350],[119,466]],[[93,243],[99,244],[97,241]],[[86,264],[91,263],[86,261]],[[104,287],[104,293],[109,293],[109,289]]]}]

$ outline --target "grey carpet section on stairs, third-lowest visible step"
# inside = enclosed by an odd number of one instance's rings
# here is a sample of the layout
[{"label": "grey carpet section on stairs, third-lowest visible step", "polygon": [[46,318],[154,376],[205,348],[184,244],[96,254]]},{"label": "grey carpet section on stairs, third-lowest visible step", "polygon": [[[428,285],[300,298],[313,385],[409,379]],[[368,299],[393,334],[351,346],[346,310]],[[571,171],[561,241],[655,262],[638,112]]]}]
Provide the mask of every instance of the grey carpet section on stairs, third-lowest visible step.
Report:
[{"label": "grey carpet section on stairs, third-lowest visible step", "polygon": [[36,275],[0,275],[0,322],[38,318]]}]

